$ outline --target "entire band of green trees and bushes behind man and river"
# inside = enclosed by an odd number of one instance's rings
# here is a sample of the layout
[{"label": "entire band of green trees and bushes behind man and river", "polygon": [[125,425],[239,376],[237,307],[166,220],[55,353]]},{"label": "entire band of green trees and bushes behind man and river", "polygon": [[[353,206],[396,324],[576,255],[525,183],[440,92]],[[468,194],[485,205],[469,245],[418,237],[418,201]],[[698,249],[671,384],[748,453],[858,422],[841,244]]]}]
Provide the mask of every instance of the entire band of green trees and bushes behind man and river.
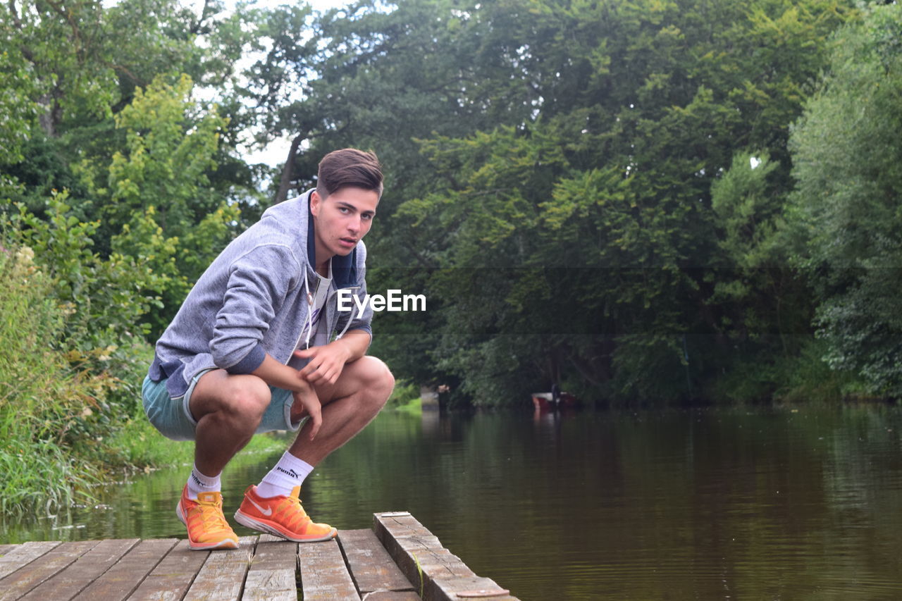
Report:
[{"label": "entire band of green trees and bushes behind man and river", "polygon": [[163,460],[128,444],[153,341],[346,145],[387,176],[369,289],[428,299],[374,322],[414,390],[902,393],[898,5],[15,0],[0,31],[2,511]]}]

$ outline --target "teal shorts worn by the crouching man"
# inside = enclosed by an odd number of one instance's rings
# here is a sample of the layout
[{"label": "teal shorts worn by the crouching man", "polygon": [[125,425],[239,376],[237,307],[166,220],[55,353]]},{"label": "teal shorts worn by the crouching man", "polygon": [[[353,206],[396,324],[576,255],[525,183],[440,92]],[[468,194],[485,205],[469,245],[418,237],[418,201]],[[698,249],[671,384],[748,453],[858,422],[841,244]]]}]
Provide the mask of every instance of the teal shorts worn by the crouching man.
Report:
[{"label": "teal shorts worn by the crouching man", "polygon": [[[198,384],[200,376],[206,374],[209,369],[195,375],[189,384],[188,390],[181,396],[170,397],[166,390],[166,380],[154,382],[149,376],[144,377],[141,387],[141,396],[144,403],[144,413],[151,421],[153,427],[160,430],[161,434],[173,440],[193,440],[194,430],[198,427],[198,421],[194,419],[189,410],[191,393]],[[273,430],[296,431],[303,420],[291,423],[291,404],[294,397],[290,391],[270,386],[272,399],[269,407],[263,413],[263,419],[257,426],[257,433],[272,432]]]}]

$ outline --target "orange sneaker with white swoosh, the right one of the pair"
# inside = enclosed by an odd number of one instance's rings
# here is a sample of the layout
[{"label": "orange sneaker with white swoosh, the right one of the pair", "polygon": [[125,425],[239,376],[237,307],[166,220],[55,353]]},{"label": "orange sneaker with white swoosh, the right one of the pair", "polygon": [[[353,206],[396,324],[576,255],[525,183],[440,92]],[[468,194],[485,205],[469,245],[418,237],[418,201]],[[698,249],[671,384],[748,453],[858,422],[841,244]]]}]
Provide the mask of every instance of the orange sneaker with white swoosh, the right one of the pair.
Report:
[{"label": "orange sneaker with white swoosh, the right one of the pair", "polygon": [[300,486],[289,496],[259,496],[257,487],[244,491],[244,502],[235,513],[235,521],[251,530],[268,532],[295,542],[334,539],[338,531],[325,523],[313,522],[300,506]]}]

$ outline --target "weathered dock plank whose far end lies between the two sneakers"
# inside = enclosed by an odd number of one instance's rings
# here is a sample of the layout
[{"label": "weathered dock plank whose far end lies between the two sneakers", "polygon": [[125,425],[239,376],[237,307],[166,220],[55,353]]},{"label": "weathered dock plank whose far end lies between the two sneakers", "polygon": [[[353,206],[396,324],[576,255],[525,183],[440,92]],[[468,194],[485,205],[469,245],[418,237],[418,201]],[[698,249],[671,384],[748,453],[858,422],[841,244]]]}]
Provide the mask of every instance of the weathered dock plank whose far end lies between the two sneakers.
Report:
[{"label": "weathered dock plank whose far end lies between the two sneakers", "polygon": [[238,544],[241,545],[238,549],[209,551],[209,557],[191,583],[185,601],[238,601],[241,598],[244,576],[253,560],[257,537],[243,536],[238,539]]}]

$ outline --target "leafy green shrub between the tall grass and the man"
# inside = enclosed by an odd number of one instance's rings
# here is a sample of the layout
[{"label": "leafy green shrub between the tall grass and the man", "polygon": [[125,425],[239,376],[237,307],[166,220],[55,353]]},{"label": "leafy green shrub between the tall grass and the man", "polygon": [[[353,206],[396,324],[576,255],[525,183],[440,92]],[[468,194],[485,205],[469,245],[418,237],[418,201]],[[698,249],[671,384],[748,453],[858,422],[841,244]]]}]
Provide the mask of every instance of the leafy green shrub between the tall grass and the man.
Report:
[{"label": "leafy green shrub between the tall grass and the man", "polygon": [[[78,385],[85,390],[79,389],[78,398],[91,399],[71,420],[49,423],[62,429],[60,439],[67,447],[102,458],[97,437],[119,428],[138,406],[140,383],[151,359],[141,336],[148,327],[141,320],[159,303],[143,291],[159,290],[162,282],[132,257],[111,254],[104,259],[91,252],[97,223],[79,222],[66,200],[60,193],[48,201],[48,221],[20,206],[9,236],[33,249],[33,261],[47,281],[44,295],[65,316],[58,331],[46,333],[45,344],[80,374]],[[23,402],[18,395],[13,401]]]}]

